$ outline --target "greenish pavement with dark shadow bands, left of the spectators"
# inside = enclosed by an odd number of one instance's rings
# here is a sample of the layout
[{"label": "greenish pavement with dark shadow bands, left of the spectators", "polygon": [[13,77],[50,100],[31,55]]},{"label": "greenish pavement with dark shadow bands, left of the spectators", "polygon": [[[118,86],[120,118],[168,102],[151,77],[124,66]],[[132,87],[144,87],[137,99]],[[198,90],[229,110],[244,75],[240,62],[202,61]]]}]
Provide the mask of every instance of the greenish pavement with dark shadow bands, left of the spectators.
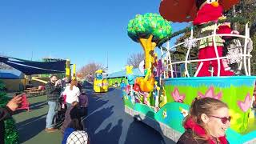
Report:
[{"label": "greenish pavement with dark shadow bands, left of the spectators", "polygon": [[46,95],[29,98],[30,111],[18,110],[13,118],[19,133],[19,142],[24,144],[60,144],[61,131],[46,133],[46,114],[48,104]]}]

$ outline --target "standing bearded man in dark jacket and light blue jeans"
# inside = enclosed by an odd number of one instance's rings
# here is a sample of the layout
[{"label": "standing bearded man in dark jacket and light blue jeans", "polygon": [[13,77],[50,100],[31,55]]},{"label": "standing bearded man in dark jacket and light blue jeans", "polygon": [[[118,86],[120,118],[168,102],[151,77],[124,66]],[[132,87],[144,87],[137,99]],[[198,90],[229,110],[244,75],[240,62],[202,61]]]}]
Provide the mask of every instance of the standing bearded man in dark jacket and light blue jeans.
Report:
[{"label": "standing bearded man in dark jacket and light blue jeans", "polygon": [[46,132],[48,133],[58,130],[54,129],[54,125],[52,123],[61,90],[61,81],[58,80],[58,77],[56,75],[50,76],[50,82],[46,83],[46,95],[49,106],[46,117]]}]

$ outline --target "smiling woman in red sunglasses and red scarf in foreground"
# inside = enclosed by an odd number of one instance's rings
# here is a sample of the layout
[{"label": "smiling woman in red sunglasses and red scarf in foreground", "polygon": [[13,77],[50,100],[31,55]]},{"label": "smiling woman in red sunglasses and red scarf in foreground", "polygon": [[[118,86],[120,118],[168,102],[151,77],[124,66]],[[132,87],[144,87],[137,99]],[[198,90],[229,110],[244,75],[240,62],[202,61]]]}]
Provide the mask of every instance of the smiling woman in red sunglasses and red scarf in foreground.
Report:
[{"label": "smiling woman in red sunglasses and red scarf in foreground", "polygon": [[214,98],[196,98],[183,122],[186,131],[177,143],[228,144],[225,132],[230,119],[226,103]]}]

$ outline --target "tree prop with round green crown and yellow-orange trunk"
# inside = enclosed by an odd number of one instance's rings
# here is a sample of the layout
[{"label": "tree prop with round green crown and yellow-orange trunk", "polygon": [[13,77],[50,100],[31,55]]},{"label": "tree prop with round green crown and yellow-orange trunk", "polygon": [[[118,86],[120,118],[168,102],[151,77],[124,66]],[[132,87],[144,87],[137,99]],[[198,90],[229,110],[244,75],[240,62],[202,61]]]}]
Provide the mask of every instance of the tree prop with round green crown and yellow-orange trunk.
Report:
[{"label": "tree prop with round green crown and yellow-orange trunk", "polygon": [[150,69],[154,61],[154,48],[158,42],[171,34],[170,22],[159,14],[137,14],[127,27],[129,37],[139,42],[145,52],[145,69]]}]

